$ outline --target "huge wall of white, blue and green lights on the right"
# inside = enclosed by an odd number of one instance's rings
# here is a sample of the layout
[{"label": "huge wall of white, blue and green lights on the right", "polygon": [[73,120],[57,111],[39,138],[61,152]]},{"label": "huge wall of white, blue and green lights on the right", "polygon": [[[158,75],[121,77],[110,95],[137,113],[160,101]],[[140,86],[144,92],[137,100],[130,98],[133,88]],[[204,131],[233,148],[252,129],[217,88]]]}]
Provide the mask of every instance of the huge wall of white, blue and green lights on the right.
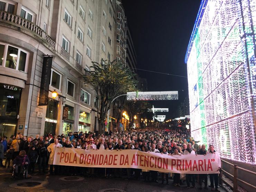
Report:
[{"label": "huge wall of white, blue and green lights on the right", "polygon": [[191,135],[256,164],[256,1],[202,0],[185,56]]}]

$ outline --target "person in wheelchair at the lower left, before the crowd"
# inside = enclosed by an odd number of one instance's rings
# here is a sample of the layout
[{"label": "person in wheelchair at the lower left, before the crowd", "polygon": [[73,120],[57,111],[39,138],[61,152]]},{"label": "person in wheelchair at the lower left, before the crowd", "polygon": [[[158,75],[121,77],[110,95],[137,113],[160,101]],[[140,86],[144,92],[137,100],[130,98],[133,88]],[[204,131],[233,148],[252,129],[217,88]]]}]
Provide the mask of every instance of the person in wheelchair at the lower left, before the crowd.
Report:
[{"label": "person in wheelchair at the lower left, before the crowd", "polygon": [[19,155],[13,160],[13,171],[15,175],[19,175],[23,168],[28,168],[28,164],[30,163],[28,156],[26,155],[25,150],[21,150]]}]

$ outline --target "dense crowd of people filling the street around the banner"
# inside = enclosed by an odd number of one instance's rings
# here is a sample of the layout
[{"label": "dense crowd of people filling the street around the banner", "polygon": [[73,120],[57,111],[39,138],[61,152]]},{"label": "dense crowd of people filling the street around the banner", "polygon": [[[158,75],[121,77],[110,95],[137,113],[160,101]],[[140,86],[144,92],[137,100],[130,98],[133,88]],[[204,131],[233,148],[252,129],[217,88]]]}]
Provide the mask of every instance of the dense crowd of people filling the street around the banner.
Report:
[{"label": "dense crowd of people filling the street around the banner", "polygon": [[[105,132],[98,135],[98,132],[69,132],[67,136],[52,135],[45,136],[32,135],[29,137],[22,136],[18,133],[12,135],[9,139],[5,136],[0,138],[0,166],[6,168],[15,168],[18,172],[19,166],[28,166],[29,173],[35,172],[38,167],[39,173],[49,172],[50,175],[81,175],[88,177],[106,176],[120,177],[127,180],[140,180],[141,175],[145,182],[156,182],[158,178],[169,184],[169,179],[173,179],[174,186],[180,186],[186,182],[187,188],[196,188],[195,182],[198,180],[199,189],[208,188],[207,174],[179,174],[179,173],[158,173],[157,171],[140,170],[133,168],[93,168],[93,167],[73,167],[53,165],[54,152],[56,147],[76,148],[79,150],[125,150],[136,149],[143,152],[162,153],[171,155],[207,155],[209,153],[217,153],[212,145],[208,150],[205,145],[198,145],[186,128],[172,127],[165,128],[145,128],[135,129],[132,131],[122,132]],[[5,164],[2,161],[5,154]],[[12,162],[12,163],[11,163]],[[37,165],[37,166],[36,166]],[[219,159],[220,169],[220,159]],[[142,174],[141,174],[142,173]],[[170,177],[169,177],[170,175]],[[211,182],[211,190],[218,189],[218,174],[209,174]],[[151,177],[151,180],[150,180]],[[197,179],[198,178],[198,179]],[[214,189],[215,185],[215,189]]]}]

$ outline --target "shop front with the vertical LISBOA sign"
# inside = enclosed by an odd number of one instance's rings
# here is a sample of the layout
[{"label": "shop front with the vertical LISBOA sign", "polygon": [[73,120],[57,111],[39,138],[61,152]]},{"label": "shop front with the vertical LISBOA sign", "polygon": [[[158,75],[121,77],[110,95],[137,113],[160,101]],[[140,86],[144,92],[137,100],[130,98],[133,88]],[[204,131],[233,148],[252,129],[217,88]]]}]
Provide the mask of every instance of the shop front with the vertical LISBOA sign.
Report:
[{"label": "shop front with the vertical LISBOA sign", "polygon": [[62,133],[65,134],[65,136],[68,135],[69,132],[73,132],[73,125],[74,125],[74,107],[65,105],[63,107],[63,130]]}]

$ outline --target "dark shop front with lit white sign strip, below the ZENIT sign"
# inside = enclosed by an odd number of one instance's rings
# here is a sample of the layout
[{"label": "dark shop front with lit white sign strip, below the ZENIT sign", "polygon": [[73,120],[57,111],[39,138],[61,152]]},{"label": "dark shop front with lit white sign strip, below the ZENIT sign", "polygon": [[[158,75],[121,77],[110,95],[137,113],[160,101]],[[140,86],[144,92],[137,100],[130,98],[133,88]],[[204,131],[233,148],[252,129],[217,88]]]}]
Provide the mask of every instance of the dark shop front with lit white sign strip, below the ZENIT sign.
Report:
[{"label": "dark shop front with lit white sign strip, below the ZENIT sign", "polygon": [[44,135],[55,135],[58,116],[58,101],[49,99],[46,107]]}]

